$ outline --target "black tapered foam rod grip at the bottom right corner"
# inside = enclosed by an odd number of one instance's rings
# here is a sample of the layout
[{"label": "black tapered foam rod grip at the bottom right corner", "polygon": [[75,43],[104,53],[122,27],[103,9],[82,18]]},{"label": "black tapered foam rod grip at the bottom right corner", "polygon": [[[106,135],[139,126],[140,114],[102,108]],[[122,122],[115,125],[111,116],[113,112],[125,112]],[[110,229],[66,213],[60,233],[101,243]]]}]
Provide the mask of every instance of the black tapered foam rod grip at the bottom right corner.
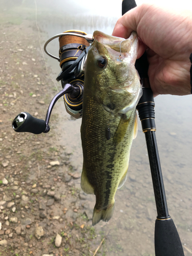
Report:
[{"label": "black tapered foam rod grip at the bottom right corner", "polygon": [[155,222],[155,255],[184,256],[181,240],[172,219]]}]

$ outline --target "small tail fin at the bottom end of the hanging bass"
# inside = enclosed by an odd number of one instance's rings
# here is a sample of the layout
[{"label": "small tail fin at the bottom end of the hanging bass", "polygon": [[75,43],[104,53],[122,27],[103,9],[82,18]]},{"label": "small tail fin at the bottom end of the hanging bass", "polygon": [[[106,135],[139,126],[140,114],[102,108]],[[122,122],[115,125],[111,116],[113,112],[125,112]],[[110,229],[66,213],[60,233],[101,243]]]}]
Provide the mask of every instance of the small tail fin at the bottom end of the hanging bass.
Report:
[{"label": "small tail fin at the bottom end of the hanging bass", "polygon": [[113,216],[114,206],[115,206],[115,199],[108,206],[108,208],[104,210],[102,209],[98,210],[96,209],[96,207],[94,207],[92,225],[95,226],[100,220],[108,222]]}]

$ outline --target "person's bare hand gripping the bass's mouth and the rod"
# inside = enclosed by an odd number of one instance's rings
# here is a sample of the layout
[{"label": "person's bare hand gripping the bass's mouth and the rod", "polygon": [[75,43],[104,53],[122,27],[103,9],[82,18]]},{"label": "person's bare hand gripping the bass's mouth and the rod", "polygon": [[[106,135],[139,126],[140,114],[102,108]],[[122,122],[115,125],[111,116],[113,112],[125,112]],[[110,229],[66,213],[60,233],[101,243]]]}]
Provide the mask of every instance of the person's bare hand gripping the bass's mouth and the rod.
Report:
[{"label": "person's bare hand gripping the bass's mouth and the rod", "polygon": [[192,13],[143,4],[118,19],[113,36],[128,38],[132,31],[141,39],[138,58],[147,52],[154,96],[190,94]]}]

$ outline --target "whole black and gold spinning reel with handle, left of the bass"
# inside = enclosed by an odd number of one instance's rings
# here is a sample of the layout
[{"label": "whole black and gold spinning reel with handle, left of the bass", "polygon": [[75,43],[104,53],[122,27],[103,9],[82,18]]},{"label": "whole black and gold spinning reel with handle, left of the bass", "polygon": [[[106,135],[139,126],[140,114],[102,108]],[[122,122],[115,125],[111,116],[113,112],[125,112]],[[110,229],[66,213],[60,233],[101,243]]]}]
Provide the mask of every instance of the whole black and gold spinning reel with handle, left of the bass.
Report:
[{"label": "whole black and gold spinning reel with handle, left of the bass", "polygon": [[[59,37],[59,57],[47,51],[47,45]],[[84,70],[87,54],[93,35],[79,30],[69,30],[50,38],[45,46],[45,52],[60,62],[61,72],[56,80],[61,81],[62,90],[52,99],[46,120],[37,119],[29,113],[22,112],[15,117],[12,127],[15,132],[29,132],[33,134],[48,133],[50,131],[49,119],[56,101],[64,95],[66,111],[76,119],[82,117],[82,99],[84,86]]]}]

